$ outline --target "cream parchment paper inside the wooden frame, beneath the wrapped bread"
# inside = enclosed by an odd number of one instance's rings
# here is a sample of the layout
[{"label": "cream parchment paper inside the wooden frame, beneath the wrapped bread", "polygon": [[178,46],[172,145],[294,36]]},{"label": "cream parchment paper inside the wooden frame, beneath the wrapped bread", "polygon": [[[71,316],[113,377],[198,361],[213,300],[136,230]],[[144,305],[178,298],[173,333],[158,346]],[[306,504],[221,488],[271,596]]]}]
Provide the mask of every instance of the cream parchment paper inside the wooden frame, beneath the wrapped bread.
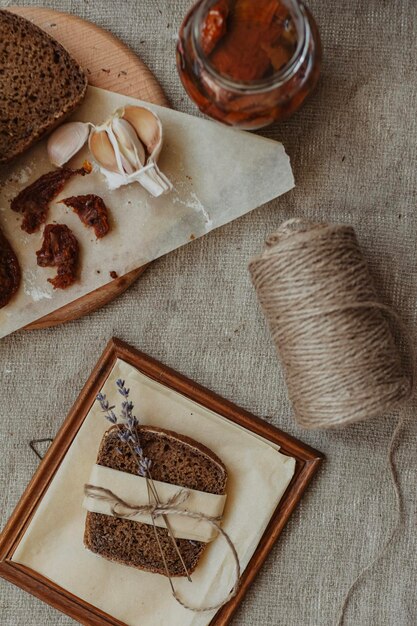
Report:
[{"label": "cream parchment paper inside the wooden frame, beneath the wrapped bread", "polygon": [[[118,360],[103,392],[119,406],[117,378],[126,380],[141,423],[169,428],[211,448],[228,470],[223,527],[244,569],[294,474],[295,460],[181,394]],[[172,598],[168,580],[112,563],[83,545],[83,486],[108,428],[95,403],[43,497],[13,560],[40,572],[128,626],[206,626],[213,613],[193,613]],[[193,583],[176,582],[185,599],[213,603],[233,584],[233,559],[219,538],[204,554]]]}]

